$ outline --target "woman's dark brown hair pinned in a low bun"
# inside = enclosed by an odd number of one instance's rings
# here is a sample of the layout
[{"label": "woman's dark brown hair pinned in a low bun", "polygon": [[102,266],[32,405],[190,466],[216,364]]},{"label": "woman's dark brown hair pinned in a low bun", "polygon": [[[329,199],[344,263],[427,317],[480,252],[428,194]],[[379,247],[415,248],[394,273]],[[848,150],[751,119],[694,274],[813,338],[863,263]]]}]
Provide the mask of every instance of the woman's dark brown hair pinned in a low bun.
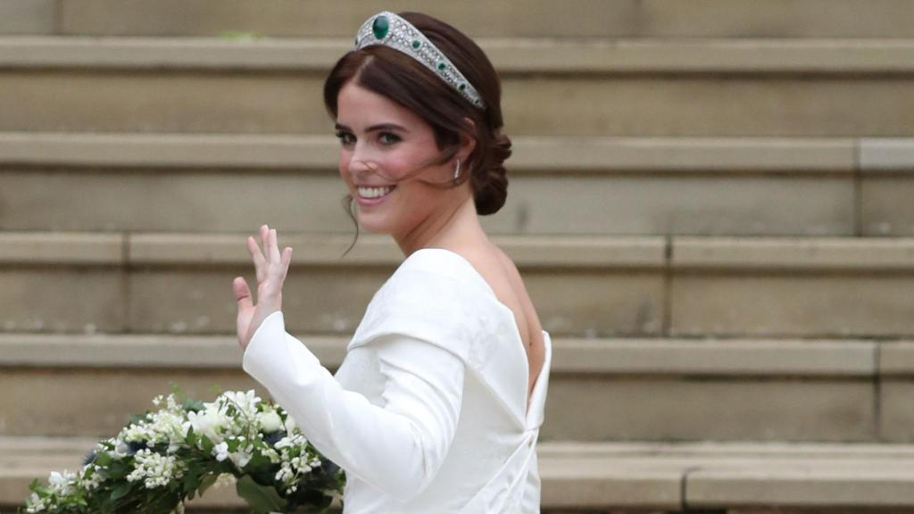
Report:
[{"label": "woman's dark brown hair pinned in a low bun", "polygon": [[[439,158],[430,164],[451,160],[459,148],[461,134],[473,137],[476,145],[462,163],[462,169],[469,173],[461,173],[456,184],[449,181],[435,186],[456,187],[469,177],[476,212],[494,214],[505,205],[508,181],[504,163],[511,155],[511,140],[501,134],[504,121],[498,75],[483,49],[456,28],[420,13],[400,13],[399,16],[418,28],[451,59],[479,92],[485,109],[463,98],[460,92],[416,59],[394,48],[375,45],[350,51],[336,62],[324,82],[327,112],[336,119],[340,90],[350,80],[356,80],[359,86],[398,102],[430,124],[441,150]],[[474,129],[464,118],[473,120]],[[357,239],[358,222],[353,212],[353,199],[352,195],[346,195],[343,202],[350,218],[356,222]]]}]

